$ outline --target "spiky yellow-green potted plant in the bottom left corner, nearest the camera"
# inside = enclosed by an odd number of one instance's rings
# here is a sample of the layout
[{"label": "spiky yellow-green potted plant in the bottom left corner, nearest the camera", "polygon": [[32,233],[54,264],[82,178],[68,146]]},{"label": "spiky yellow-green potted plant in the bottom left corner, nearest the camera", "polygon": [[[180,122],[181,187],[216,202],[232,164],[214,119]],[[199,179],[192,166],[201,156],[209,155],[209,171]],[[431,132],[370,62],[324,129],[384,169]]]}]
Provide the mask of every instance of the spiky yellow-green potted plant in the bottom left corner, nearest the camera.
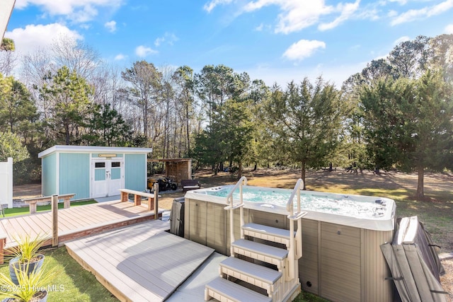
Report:
[{"label": "spiky yellow-green potted plant in the bottom left corner, nearest the camera", "polygon": [[55,276],[55,269],[29,269],[30,262],[25,264],[26,269],[15,267],[18,283],[15,284],[4,274],[0,274],[0,299],[3,302],[45,302],[47,288]]}]

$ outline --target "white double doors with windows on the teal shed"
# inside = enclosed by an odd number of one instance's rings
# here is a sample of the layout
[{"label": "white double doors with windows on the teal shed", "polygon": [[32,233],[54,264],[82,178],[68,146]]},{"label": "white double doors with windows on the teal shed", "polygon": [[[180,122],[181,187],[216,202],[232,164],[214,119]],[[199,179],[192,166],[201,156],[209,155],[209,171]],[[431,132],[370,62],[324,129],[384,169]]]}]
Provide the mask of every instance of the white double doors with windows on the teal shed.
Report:
[{"label": "white double doors with windows on the teal shed", "polygon": [[124,188],[124,162],[115,159],[95,159],[91,163],[93,198],[119,195]]}]

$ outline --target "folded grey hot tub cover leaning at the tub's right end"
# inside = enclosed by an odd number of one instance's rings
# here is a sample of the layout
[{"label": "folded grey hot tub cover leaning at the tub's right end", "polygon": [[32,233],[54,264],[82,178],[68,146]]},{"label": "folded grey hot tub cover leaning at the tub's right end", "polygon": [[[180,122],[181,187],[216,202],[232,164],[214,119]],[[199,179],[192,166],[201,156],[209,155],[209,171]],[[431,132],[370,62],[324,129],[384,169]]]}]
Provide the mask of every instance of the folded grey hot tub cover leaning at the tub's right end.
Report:
[{"label": "folded grey hot tub cover leaning at the tub's right end", "polygon": [[403,302],[447,301],[439,281],[443,267],[427,234],[417,216],[404,217],[393,242],[381,245]]}]

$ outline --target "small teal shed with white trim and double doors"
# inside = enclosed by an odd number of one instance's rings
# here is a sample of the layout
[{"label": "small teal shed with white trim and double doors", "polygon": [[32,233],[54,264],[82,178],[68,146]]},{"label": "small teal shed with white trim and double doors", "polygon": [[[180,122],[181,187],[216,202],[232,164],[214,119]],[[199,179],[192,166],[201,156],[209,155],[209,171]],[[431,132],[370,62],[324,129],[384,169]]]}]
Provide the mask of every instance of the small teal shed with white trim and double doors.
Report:
[{"label": "small teal shed with white trim and double doors", "polygon": [[71,194],[74,199],[108,197],[120,189],[147,187],[150,148],[53,146],[38,154],[42,195]]}]

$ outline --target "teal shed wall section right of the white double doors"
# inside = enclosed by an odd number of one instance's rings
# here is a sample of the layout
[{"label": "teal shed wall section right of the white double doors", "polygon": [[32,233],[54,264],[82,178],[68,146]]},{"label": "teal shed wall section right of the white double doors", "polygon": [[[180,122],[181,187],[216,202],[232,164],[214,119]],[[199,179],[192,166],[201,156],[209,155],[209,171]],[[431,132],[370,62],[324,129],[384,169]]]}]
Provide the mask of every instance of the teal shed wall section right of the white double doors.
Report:
[{"label": "teal shed wall section right of the white double doors", "polygon": [[137,191],[147,188],[146,154],[125,154],[125,188]]}]

